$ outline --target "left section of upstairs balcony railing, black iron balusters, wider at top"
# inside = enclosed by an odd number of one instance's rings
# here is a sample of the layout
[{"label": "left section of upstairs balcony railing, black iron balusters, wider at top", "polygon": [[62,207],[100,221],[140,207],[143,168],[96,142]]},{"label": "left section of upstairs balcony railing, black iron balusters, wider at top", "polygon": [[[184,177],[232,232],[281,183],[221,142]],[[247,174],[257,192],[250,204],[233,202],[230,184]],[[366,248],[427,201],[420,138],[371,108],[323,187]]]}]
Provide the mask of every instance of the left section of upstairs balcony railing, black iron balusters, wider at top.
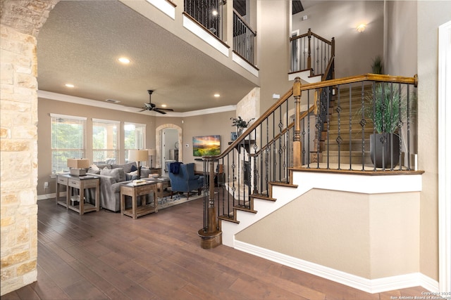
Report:
[{"label": "left section of upstairs balcony railing, black iron balusters, wider at top", "polygon": [[185,0],[185,13],[197,20],[218,39],[223,39],[222,0]]}]

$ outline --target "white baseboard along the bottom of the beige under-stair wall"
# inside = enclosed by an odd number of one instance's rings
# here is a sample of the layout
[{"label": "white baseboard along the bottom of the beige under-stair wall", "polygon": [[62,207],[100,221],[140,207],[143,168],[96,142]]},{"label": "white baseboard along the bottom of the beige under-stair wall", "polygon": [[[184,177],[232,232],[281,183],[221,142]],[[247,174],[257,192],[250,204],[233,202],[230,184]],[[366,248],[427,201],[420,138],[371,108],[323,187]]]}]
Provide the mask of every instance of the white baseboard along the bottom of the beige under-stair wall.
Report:
[{"label": "white baseboard along the bottom of the beige under-stair wall", "polygon": [[234,248],[371,294],[418,286],[424,287],[430,292],[438,292],[438,282],[421,273],[410,273],[371,280],[238,240],[235,240]]}]

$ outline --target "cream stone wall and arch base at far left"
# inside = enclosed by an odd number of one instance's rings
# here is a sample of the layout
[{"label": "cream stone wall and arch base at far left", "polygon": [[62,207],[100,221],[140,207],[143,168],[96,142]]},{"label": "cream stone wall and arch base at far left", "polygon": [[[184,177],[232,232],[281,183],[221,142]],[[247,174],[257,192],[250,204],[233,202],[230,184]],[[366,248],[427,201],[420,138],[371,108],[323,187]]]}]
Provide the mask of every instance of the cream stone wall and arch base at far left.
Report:
[{"label": "cream stone wall and arch base at far left", "polygon": [[37,280],[36,38],[57,2],[0,6],[1,295]]}]

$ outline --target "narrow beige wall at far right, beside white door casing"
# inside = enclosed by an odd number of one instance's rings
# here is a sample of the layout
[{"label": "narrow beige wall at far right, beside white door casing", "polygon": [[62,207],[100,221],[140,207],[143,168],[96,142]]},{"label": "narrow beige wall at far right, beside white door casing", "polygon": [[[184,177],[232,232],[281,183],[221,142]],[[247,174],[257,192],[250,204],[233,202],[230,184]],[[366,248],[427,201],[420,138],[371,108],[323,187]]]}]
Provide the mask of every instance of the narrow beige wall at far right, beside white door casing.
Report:
[{"label": "narrow beige wall at far right, beside white door casing", "polygon": [[421,193],[421,273],[438,280],[438,26],[451,20],[451,1],[418,1],[418,159]]}]

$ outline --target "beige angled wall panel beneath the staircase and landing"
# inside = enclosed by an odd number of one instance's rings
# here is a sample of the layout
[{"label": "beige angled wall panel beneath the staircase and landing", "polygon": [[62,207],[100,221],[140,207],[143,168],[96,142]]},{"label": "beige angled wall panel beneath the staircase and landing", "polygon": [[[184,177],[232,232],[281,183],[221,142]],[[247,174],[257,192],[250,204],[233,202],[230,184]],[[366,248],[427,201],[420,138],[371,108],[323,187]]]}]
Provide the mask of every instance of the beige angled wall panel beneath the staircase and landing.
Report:
[{"label": "beige angled wall panel beneath the staircase and landing", "polygon": [[310,190],[242,230],[242,242],[368,279],[419,272],[419,193]]}]

